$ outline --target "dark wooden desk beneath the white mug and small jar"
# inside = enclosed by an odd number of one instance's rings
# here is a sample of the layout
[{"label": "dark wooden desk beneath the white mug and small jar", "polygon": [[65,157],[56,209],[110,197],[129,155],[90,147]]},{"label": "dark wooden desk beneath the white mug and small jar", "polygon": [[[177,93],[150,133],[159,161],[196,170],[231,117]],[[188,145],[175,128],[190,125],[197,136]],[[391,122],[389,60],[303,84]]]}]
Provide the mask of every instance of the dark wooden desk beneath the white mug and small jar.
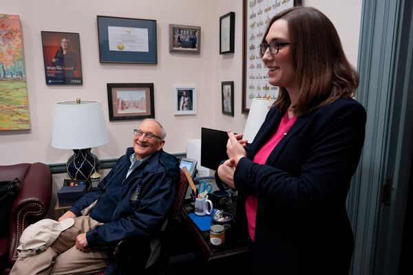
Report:
[{"label": "dark wooden desk beneath the white mug and small jar", "polygon": [[211,245],[211,243],[209,243],[209,231],[202,232],[198,228],[188,216],[191,212],[193,212],[192,206],[189,203],[185,204],[182,209],[183,221],[187,224],[191,235],[198,242],[198,245],[200,245],[200,248],[208,261],[237,254],[249,253],[251,251],[251,241],[235,239],[235,232],[230,232],[230,234],[226,236],[224,245]]}]

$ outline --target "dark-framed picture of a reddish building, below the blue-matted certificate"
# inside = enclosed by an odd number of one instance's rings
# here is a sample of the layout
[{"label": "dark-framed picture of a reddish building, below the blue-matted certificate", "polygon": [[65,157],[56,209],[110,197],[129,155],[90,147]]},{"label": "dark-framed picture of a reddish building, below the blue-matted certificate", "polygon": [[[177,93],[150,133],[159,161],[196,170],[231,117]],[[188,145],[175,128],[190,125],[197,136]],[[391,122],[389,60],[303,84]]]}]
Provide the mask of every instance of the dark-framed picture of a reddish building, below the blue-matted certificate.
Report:
[{"label": "dark-framed picture of a reddish building, below the blue-matted certificate", "polygon": [[153,83],[107,83],[109,120],[155,118]]}]

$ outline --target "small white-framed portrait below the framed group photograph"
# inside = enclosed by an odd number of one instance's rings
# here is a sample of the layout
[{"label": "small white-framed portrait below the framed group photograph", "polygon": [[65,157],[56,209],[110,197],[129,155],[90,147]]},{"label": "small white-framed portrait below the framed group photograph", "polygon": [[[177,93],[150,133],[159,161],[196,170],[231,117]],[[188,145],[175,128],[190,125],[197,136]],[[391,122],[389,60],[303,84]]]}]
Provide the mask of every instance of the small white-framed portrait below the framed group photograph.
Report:
[{"label": "small white-framed portrait below the framed group photograph", "polygon": [[173,91],[175,114],[196,114],[196,92],[195,87],[176,87]]}]

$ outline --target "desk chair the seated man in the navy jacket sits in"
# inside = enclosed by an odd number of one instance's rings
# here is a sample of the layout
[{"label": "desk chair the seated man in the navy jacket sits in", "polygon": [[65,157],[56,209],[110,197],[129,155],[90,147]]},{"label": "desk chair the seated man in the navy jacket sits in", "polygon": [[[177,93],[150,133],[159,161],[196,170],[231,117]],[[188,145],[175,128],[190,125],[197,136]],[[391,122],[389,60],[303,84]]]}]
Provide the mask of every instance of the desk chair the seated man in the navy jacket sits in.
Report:
[{"label": "desk chair the seated man in the navy jacket sits in", "polygon": [[119,263],[121,274],[166,274],[171,252],[171,235],[180,223],[180,212],[187,194],[187,188],[187,177],[180,170],[180,179],[176,186],[176,198],[173,201],[171,218],[168,221],[167,228],[159,233],[160,256],[153,265],[145,267],[150,250],[142,248],[149,248],[149,241],[128,239],[120,241],[116,245],[114,257]]}]

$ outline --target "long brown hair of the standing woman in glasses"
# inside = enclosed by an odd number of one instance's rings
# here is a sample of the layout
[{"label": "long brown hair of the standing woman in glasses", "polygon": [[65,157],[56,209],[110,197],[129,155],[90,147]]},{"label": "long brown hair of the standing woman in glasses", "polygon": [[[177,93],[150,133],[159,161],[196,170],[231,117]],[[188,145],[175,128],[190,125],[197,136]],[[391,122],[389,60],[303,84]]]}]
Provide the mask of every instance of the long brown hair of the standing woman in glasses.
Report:
[{"label": "long brown hair of the standing woman in glasses", "polygon": [[[297,104],[292,107],[295,115],[304,115],[338,98],[352,98],[359,86],[359,74],[348,62],[330,19],[315,8],[284,10],[271,19],[262,43],[278,19],[287,21],[293,43],[290,50],[299,93]],[[273,107],[284,113],[290,103],[287,90],[280,87]]]}]

